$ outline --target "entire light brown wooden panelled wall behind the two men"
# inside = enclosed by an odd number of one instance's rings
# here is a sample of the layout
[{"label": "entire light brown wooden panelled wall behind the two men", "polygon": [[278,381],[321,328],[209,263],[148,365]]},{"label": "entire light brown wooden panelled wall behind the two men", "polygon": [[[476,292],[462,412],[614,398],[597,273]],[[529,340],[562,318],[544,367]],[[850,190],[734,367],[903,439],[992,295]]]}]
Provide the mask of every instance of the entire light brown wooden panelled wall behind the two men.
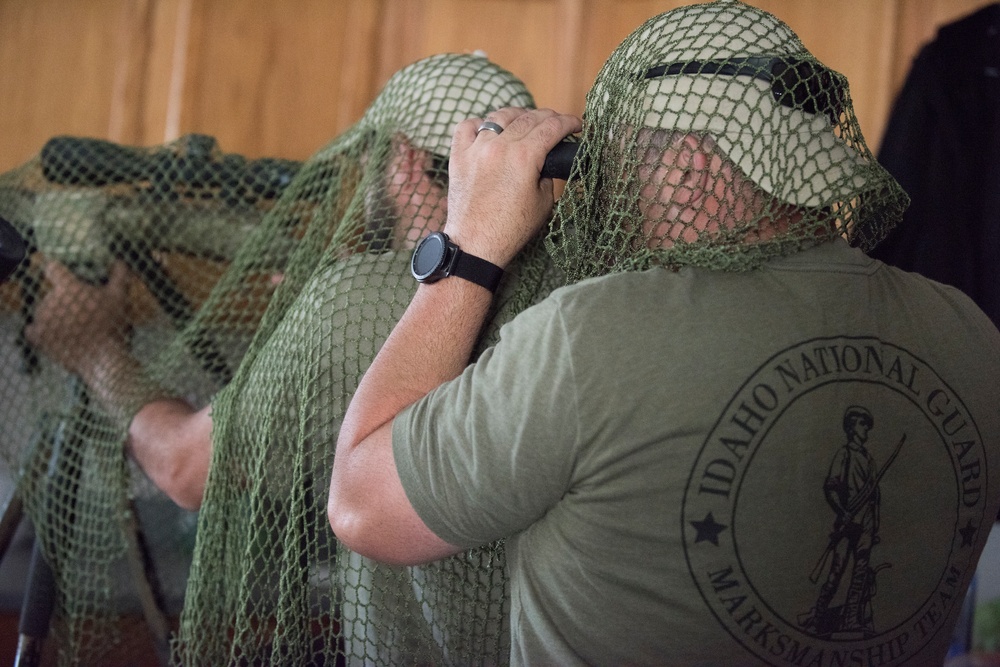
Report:
[{"label": "entire light brown wooden panelled wall behind the two men", "polygon": [[[400,67],[483,50],[582,113],[608,54],[690,0],[0,0],[0,171],[56,134],[304,159]],[[848,76],[869,144],[917,50],[988,0],[750,0]]]}]

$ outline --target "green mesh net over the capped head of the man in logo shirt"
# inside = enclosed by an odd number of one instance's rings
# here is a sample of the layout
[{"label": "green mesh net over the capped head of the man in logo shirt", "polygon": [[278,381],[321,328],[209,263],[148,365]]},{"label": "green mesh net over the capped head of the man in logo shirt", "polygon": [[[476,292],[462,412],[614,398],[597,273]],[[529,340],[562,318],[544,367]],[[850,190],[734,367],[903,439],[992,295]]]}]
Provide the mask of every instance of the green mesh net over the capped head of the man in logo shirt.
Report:
[{"label": "green mesh net over the capped head of the man in logo shirt", "polygon": [[869,249],[908,198],[865,145],[846,79],[734,0],[649,19],[587,96],[548,239],[572,278],[747,270],[844,236]]}]

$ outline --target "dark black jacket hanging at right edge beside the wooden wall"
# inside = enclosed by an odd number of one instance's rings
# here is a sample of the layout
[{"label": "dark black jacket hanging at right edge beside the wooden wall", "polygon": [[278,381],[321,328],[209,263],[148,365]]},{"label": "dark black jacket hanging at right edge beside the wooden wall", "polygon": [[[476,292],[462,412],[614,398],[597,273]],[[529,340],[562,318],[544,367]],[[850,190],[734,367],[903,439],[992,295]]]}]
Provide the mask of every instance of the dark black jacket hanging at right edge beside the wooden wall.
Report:
[{"label": "dark black jacket hanging at right edge beside the wooden wall", "polygon": [[923,47],[878,159],[912,203],[872,256],[961,289],[1000,327],[1000,3]]}]

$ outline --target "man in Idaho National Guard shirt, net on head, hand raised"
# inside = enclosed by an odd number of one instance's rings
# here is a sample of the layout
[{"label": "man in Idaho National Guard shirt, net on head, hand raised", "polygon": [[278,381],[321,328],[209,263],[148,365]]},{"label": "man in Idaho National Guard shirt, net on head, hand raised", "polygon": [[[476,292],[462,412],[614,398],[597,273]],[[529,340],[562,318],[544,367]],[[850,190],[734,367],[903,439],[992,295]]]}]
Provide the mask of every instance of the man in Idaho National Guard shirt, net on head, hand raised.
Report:
[{"label": "man in Idaho National Guard shirt, net on head, hand raised", "polygon": [[[503,267],[545,227],[577,122],[459,125],[464,252]],[[1000,505],[1000,333],[865,254],[907,198],[847,82],[769,13],[683,7],[611,54],[579,151],[546,239],[578,282],[473,364],[489,292],[417,289],[344,418],[338,539],[422,563],[504,538],[514,664],[941,664]],[[850,406],[872,465],[834,517]],[[872,539],[831,534],[862,511]]]}]

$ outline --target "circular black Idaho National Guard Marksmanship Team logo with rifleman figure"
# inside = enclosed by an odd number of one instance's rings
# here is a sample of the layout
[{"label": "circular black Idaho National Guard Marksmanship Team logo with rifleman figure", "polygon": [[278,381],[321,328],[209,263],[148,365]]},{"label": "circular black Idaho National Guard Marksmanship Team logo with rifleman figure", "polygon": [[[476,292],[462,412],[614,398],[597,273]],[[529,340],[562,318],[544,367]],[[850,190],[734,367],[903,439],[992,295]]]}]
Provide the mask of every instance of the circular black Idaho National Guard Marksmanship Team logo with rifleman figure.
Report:
[{"label": "circular black Idaho National Guard Marksmanship Team logo with rifleman figure", "polygon": [[906,664],[952,630],[992,525],[985,465],[961,397],[921,359],[876,338],[800,343],[747,379],[699,452],[691,576],[769,664]]}]

